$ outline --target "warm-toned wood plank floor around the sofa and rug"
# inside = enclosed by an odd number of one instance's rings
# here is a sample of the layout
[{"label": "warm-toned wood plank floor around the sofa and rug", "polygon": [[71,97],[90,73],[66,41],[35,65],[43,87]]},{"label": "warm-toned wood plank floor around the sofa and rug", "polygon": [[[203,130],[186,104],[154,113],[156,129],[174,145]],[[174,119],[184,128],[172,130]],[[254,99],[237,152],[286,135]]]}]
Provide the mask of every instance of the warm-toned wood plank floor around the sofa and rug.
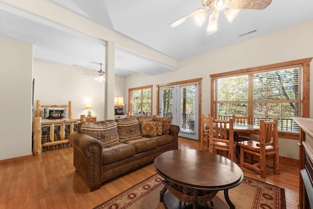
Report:
[{"label": "warm-toned wood plank floor around the sofa and rug", "polygon": [[[199,149],[198,141],[179,138],[179,149]],[[285,188],[288,209],[297,209],[299,168],[282,159],[280,175],[267,178],[243,168],[247,177]],[[0,209],[92,209],[155,174],[153,164],[109,181],[90,192],[73,166],[73,147],[45,151],[29,160],[0,165]]]}]

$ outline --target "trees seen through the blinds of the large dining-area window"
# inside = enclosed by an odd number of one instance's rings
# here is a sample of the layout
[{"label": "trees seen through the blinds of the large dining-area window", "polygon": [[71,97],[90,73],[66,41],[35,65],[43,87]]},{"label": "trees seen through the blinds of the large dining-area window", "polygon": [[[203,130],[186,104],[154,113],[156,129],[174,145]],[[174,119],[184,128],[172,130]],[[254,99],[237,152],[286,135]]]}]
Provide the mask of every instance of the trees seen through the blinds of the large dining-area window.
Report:
[{"label": "trees seen through the blinds of the large dining-area window", "polygon": [[291,119],[301,116],[302,68],[264,71],[215,80],[214,105],[218,118],[251,115],[279,120],[279,130],[298,132]]}]

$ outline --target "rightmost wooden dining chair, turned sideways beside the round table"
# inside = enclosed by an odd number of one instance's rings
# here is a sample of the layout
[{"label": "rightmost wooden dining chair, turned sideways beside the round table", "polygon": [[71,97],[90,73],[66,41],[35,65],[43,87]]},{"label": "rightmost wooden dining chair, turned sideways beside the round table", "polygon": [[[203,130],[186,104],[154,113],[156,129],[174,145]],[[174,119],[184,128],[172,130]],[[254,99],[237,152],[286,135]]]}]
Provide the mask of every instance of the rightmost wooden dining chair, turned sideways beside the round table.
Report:
[{"label": "rightmost wooden dining chair, turned sideways beside the round table", "polygon": [[[266,167],[274,169],[279,174],[278,130],[277,119],[266,122],[260,120],[260,141],[247,140],[238,142],[240,146],[240,166],[246,166],[260,172],[260,176],[266,178]],[[251,163],[244,161],[244,153],[251,154]],[[273,156],[273,164],[266,163],[266,156]],[[259,156],[259,163],[255,163],[253,157]]]}]

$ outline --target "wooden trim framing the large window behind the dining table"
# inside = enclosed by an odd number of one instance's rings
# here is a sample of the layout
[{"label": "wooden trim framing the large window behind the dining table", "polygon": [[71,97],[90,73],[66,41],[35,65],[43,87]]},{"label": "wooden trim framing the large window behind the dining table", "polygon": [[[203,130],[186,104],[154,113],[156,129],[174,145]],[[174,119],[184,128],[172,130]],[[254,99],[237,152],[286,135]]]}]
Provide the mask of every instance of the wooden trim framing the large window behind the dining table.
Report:
[{"label": "wooden trim framing the large window behind the dining table", "polygon": [[[259,67],[253,68],[246,68],[242,70],[234,70],[228,72],[222,72],[217,74],[211,74],[211,115],[214,116],[214,80],[217,78],[222,77],[230,77],[230,76],[238,76],[241,74],[251,74],[251,73],[258,73],[265,70],[276,70],[278,68],[289,67],[293,65],[302,65],[303,74],[302,74],[302,117],[309,117],[310,116],[310,63],[312,61],[312,57],[293,60],[288,62],[264,65]],[[254,134],[258,134],[257,132]],[[278,132],[278,137],[286,138],[286,139],[299,139],[298,133],[289,133],[289,132]]]}]

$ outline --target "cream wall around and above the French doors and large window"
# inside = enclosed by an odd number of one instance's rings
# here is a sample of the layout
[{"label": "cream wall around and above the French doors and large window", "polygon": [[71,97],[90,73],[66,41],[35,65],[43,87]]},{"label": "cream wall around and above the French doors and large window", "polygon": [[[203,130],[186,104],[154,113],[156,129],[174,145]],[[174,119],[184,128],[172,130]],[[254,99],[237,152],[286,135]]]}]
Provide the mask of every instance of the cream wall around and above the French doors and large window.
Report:
[{"label": "cream wall around and above the French doors and large window", "polygon": [[[126,88],[154,85],[153,114],[156,113],[156,85],[202,78],[202,114],[210,112],[210,74],[313,57],[313,21],[292,26],[238,44],[226,46],[179,61],[178,70],[157,76],[134,74]],[[209,37],[208,37],[209,38]],[[311,63],[311,66],[313,63]],[[312,67],[311,67],[312,68]],[[310,75],[313,81],[313,73]],[[313,82],[310,84],[313,88]],[[310,103],[313,91],[310,93]],[[313,107],[310,107],[313,116]],[[298,140],[279,139],[280,156],[299,159]]]}]

